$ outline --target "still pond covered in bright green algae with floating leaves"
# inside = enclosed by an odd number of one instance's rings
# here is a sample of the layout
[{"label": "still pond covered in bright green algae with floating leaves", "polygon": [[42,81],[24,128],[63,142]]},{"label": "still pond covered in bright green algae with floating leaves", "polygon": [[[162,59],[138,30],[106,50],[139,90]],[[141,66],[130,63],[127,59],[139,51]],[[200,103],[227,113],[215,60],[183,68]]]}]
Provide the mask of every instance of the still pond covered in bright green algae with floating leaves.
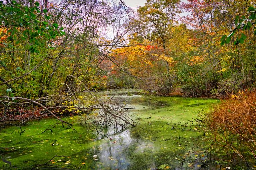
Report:
[{"label": "still pond covered in bright green algae with floating leaves", "polygon": [[[202,163],[209,157],[209,136],[195,122],[197,113],[209,111],[217,99],[139,95],[114,99],[129,100],[127,108],[132,108],[128,111],[136,127],[117,133],[110,127],[102,137],[69,117],[63,120],[73,122],[73,129],[63,128],[55,119],[32,121],[22,127],[25,131],[21,135],[15,126],[2,129],[1,157],[14,169],[218,168],[215,163]],[[1,164],[0,169],[10,167]]]}]

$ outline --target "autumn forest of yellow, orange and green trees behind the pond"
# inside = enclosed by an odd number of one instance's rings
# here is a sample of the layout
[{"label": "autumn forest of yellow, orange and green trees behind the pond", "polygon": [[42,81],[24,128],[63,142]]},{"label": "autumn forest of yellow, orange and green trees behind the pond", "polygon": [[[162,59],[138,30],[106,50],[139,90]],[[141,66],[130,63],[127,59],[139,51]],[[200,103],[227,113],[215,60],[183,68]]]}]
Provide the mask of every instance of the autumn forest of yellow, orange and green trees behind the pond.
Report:
[{"label": "autumn forest of yellow, orange and green trees behind the pond", "polygon": [[103,106],[109,100],[91,93],[106,89],[238,98],[255,87],[254,7],[249,0],[147,0],[137,11],[122,0],[0,1],[1,121],[41,115],[31,104],[54,117],[97,106],[116,117]]}]

